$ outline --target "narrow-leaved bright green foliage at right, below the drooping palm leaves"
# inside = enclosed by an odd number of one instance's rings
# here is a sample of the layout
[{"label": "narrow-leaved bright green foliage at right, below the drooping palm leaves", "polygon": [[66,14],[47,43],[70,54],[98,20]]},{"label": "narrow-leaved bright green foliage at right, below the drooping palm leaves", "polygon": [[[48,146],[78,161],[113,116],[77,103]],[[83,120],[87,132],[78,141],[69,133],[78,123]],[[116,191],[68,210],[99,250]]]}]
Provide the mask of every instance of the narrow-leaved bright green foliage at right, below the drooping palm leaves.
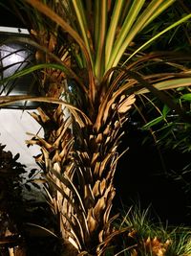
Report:
[{"label": "narrow-leaved bright green foliage at right, below the drooping palm leaves", "polygon": [[[179,104],[185,113],[190,115],[190,93],[188,91],[189,88],[184,88],[170,93],[173,94],[173,101]],[[145,141],[152,143],[153,140],[160,149],[178,150],[182,153],[191,151],[189,135],[191,124],[189,121],[180,118],[175,110],[167,105],[159,104],[156,98],[142,97],[141,103],[144,105],[144,109],[141,110],[143,120],[140,121],[139,119],[138,126],[145,134],[143,143]],[[146,133],[146,131],[149,131],[149,133]],[[152,136],[149,135],[150,132]]]}]

